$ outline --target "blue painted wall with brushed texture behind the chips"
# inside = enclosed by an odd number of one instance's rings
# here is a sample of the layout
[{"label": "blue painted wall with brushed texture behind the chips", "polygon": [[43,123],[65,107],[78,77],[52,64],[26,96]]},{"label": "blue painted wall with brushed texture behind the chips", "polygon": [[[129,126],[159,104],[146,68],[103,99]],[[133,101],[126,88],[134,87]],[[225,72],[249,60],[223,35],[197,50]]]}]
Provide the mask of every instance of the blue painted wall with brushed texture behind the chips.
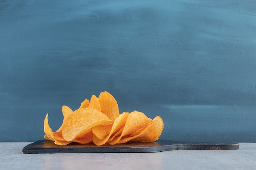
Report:
[{"label": "blue painted wall with brushed texture behind the chips", "polygon": [[0,141],[110,92],[161,139],[256,142],[256,2],[1,0]]}]

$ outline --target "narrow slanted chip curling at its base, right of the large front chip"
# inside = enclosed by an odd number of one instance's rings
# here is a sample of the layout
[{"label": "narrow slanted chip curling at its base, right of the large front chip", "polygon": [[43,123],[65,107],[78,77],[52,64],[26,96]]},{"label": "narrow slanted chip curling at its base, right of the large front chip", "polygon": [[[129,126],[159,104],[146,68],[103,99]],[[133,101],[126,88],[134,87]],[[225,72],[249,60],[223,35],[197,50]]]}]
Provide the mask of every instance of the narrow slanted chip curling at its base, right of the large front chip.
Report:
[{"label": "narrow slanted chip curling at its base, right of the large front chip", "polygon": [[[111,131],[109,132],[108,136],[104,137],[103,139],[101,137],[98,137],[97,135],[95,135],[92,139],[93,143],[97,146],[101,146],[103,144],[106,144],[106,142],[110,139],[110,137],[112,135],[114,135],[115,137],[115,134],[117,134],[117,132],[120,131],[120,129],[122,129],[124,127],[124,125],[126,124],[126,119],[128,117],[130,113],[128,112],[124,112],[122,113],[121,115],[119,115],[119,117],[117,117],[117,119],[114,121],[113,125],[112,125],[112,128],[111,128]],[[94,128],[92,128],[92,132],[94,132]],[[122,132],[122,131],[121,131]],[[120,132],[120,134],[121,134]],[[99,133],[99,132],[98,132]],[[106,133],[105,133],[106,134]],[[104,134],[104,135],[105,135]],[[119,134],[117,134],[119,135]],[[103,135],[102,135],[103,136]],[[113,137],[113,138],[114,138]],[[112,139],[113,139],[112,138]]]}]

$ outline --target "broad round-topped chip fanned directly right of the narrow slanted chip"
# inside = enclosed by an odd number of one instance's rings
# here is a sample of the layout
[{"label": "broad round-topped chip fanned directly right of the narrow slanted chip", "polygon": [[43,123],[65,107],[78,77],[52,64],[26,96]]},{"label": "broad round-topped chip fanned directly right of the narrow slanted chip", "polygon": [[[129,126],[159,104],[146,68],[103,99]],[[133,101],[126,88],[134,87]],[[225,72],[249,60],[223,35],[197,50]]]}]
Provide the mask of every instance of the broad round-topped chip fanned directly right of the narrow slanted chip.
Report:
[{"label": "broad round-topped chip fanned directly right of the narrow slanted chip", "polygon": [[143,127],[146,128],[146,125],[150,124],[151,122],[152,119],[148,118],[144,113],[136,110],[131,112],[126,119],[126,124],[124,125],[124,130],[122,131],[121,135],[115,137],[112,141],[108,142],[108,144],[117,144],[122,137],[129,137],[137,130],[144,130]]}]

